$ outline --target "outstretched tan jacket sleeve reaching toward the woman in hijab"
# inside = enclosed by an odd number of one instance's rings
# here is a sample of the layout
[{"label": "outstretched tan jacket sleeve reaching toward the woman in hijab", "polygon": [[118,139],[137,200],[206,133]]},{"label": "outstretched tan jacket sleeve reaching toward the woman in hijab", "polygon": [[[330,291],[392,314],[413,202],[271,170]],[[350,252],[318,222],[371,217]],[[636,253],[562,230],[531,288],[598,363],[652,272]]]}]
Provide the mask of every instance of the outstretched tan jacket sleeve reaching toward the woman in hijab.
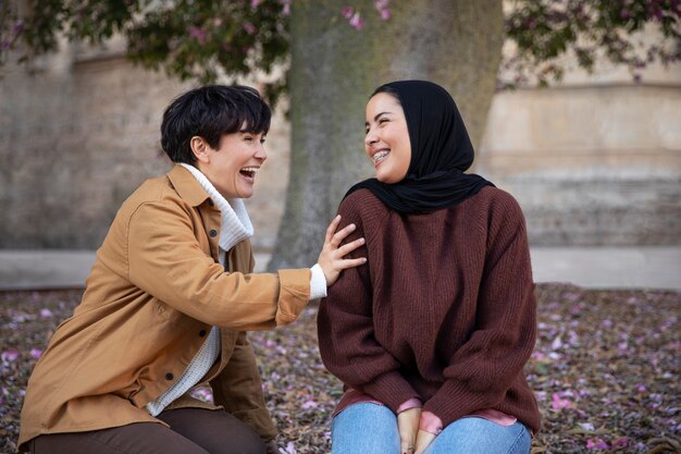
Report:
[{"label": "outstretched tan jacket sleeve reaching toward the woman in hijab", "polygon": [[209,324],[270,329],[294,321],[310,295],[310,271],[227,273],[197,240],[187,208],[140,205],[127,226],[127,279],[174,309]]}]

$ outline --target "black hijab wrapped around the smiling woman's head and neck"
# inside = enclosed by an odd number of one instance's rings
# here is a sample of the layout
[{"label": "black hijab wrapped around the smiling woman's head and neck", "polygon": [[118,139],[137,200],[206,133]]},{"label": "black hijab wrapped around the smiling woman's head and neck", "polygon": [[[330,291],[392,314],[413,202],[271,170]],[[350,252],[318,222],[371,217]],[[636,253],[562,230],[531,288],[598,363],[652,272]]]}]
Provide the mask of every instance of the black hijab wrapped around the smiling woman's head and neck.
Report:
[{"label": "black hijab wrapped around the smiling woman's head and neck", "polygon": [[407,176],[395,184],[364,180],[345,197],[366,187],[400,213],[430,212],[494,186],[482,176],[463,173],[473,163],[473,145],[447,90],[431,82],[399,81],[382,85],[373,95],[379,93],[396,96],[405,111],[411,142]]}]

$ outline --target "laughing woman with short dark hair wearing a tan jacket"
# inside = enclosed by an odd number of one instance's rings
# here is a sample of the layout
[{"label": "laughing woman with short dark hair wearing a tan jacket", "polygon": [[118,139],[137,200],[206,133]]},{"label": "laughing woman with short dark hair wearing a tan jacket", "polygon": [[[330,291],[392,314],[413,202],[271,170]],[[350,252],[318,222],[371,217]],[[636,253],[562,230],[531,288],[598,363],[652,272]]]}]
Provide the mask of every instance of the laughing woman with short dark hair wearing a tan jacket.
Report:
[{"label": "laughing woman with short dark hair wearing a tan jacket", "polygon": [[[326,232],[311,269],[252,273],[253,193],[270,108],[257,90],[206,86],[165,110],[175,167],[124,203],[81,304],[36,365],[20,450],[35,454],[275,453],[247,330],[294,321],[361,259]],[[214,404],[191,395],[209,383]]]}]

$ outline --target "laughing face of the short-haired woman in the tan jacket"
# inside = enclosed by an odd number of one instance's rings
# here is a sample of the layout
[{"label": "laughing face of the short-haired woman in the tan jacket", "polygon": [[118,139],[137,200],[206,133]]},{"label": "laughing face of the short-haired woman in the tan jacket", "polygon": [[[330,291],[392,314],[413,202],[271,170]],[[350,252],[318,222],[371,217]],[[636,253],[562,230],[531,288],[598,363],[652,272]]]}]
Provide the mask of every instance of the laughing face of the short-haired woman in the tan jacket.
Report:
[{"label": "laughing face of the short-haired woman in the tan jacket", "polygon": [[196,167],[226,199],[249,198],[253,195],[256,173],[268,158],[264,133],[239,132],[224,134],[218,149],[199,137],[191,138]]}]

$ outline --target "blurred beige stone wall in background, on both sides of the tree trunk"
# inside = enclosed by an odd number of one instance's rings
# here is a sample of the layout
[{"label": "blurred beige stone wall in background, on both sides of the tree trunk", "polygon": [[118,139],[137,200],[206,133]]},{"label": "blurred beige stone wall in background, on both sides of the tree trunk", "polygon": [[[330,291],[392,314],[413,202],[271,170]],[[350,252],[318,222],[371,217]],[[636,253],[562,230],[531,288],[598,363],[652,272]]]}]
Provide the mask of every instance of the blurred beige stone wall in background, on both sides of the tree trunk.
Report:
[{"label": "blurred beige stone wall in background, on both sides of the tree trunk", "polygon": [[[122,45],[63,45],[0,79],[0,248],[95,248],[121,201],[170,168],[161,112],[189,84],[133,66]],[[252,85],[253,83],[251,83]],[[257,85],[257,83],[255,83]],[[277,110],[248,200],[272,248],[289,127]],[[681,65],[495,96],[476,172],[510,191],[534,245],[681,245]]]}]

